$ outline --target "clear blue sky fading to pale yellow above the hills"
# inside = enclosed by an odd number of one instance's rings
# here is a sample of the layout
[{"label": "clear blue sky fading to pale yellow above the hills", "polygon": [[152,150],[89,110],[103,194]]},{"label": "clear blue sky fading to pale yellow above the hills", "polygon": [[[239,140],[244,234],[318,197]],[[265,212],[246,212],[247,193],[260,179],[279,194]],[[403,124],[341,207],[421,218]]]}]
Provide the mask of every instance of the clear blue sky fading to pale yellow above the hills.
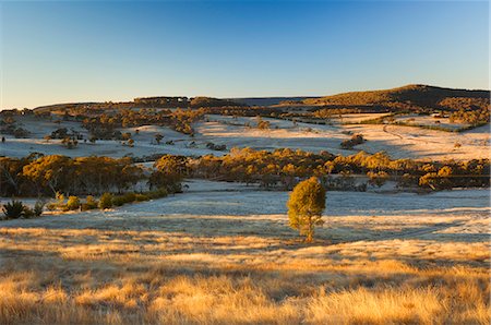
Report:
[{"label": "clear blue sky fading to pale yellow above the hills", "polygon": [[412,83],[489,88],[487,1],[0,5],[3,108]]}]

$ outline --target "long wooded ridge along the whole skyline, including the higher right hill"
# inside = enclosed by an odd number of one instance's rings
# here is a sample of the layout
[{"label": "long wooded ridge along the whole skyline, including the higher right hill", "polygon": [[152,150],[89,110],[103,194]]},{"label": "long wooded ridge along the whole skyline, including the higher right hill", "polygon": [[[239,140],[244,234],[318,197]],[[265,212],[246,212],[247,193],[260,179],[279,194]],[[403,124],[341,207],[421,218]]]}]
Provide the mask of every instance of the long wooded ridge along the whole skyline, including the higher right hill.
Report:
[{"label": "long wooded ridge along the whole skyline, including the higher right hill", "polygon": [[490,104],[489,91],[443,88],[429,85],[407,85],[384,91],[350,92],[325,97],[142,97],[122,103],[71,103],[37,107],[35,110],[118,109],[133,107],[229,107],[229,106],[322,106],[324,108],[356,109],[361,111],[484,109]]}]

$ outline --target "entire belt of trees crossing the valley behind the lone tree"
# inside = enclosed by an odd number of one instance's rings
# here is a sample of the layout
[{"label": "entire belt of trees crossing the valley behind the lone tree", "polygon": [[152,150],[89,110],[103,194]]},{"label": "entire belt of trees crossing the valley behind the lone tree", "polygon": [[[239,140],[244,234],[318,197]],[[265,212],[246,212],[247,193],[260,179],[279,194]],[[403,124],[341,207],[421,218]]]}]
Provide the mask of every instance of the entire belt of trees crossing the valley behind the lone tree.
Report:
[{"label": "entire belt of trees crossing the valley behind the lone tree", "polygon": [[336,156],[289,148],[232,148],[220,157],[165,155],[151,169],[135,165],[132,158],[31,155],[20,159],[0,157],[0,195],[124,193],[142,182],[145,189],[164,188],[175,193],[180,191],[184,177],[290,190],[301,179],[315,176],[327,188],[335,184],[352,190],[352,177],[366,176],[369,184],[379,186],[394,180],[402,188],[443,190],[489,186],[489,159],[423,162],[391,159],[385,153]]}]

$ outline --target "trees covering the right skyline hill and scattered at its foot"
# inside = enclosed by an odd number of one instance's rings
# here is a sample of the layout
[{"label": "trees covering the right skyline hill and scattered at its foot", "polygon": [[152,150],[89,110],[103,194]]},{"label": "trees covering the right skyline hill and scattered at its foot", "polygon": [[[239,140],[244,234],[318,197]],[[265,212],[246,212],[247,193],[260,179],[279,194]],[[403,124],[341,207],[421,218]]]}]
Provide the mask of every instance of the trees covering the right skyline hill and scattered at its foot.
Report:
[{"label": "trees covering the right skyline hill and scattered at its foot", "polygon": [[[352,92],[320,98],[308,98],[285,104],[296,106],[322,106],[301,116],[318,120],[330,119],[336,115],[359,112],[416,112],[429,115],[434,111],[451,113],[452,122],[469,123],[472,127],[489,123],[490,93],[408,85],[394,89],[373,92]],[[384,119],[373,119],[371,123],[382,123]],[[367,123],[367,121],[363,121]],[[403,124],[403,123],[402,123]],[[443,128],[428,128],[447,131]],[[462,129],[457,131],[463,131]]]}]

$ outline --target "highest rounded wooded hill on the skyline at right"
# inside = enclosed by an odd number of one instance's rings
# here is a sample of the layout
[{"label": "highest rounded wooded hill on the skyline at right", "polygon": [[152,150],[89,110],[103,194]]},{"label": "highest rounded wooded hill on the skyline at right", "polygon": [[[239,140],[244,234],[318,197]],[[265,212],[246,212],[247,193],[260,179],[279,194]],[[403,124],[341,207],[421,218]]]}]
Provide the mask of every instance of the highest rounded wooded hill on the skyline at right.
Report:
[{"label": "highest rounded wooded hill on the skyline at right", "polygon": [[[297,104],[302,105],[325,105],[325,106],[387,106],[408,105],[417,107],[440,107],[442,101],[450,103],[448,98],[462,100],[463,98],[474,98],[476,103],[488,101],[489,91],[467,91],[442,88],[428,85],[407,85],[404,87],[369,91],[350,92],[338,95],[307,98]],[[445,100],[446,99],[446,100]],[[444,101],[445,100],[445,101]],[[296,103],[285,103],[296,104]]]}]

